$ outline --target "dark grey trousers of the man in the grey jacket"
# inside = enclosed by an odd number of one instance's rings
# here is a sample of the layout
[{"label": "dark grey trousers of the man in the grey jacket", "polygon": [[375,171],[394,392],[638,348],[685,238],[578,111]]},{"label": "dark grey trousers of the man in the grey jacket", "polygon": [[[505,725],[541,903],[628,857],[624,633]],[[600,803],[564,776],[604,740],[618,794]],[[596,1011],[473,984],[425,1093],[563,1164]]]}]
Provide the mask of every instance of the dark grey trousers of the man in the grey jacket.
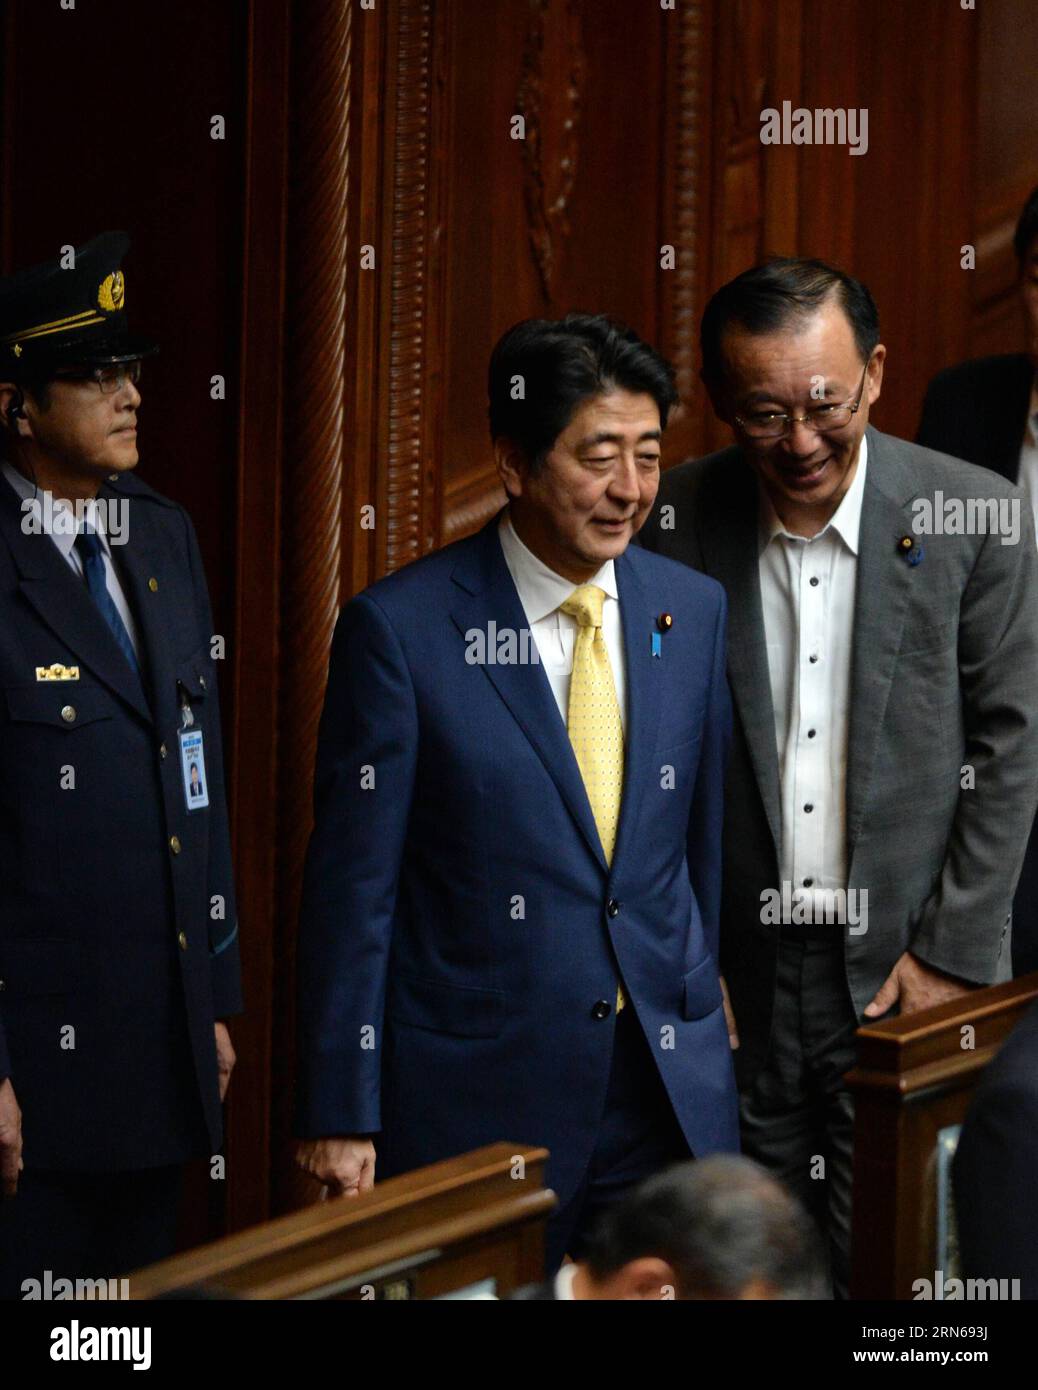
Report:
[{"label": "dark grey trousers of the man in the grey jacket", "polygon": [[855,1111],[842,1077],[856,1062],[859,1020],[843,972],[843,929],[780,931],[768,1059],[739,1095],[742,1150],[814,1218],[834,1295],[846,1298]]}]

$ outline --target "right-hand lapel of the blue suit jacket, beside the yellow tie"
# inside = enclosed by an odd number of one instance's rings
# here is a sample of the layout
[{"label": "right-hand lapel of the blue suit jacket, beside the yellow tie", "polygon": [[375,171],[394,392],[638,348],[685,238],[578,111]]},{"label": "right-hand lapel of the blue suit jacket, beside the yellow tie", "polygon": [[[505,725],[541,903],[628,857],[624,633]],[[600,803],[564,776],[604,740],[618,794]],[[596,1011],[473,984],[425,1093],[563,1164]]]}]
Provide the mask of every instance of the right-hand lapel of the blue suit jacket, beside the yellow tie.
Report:
[{"label": "right-hand lapel of the blue suit jacket, beside the yellow tie", "polygon": [[[624,632],[624,666],[627,673],[627,727],[624,749],[624,798],[620,805],[620,827],[613,863],[634,840],[638,809],[649,778],[649,763],[656,748],[660,726],[660,682],[663,662],[652,655],[652,634],[656,613],[652,596],[646,594],[629,556],[616,562],[617,592],[620,594],[620,624]],[[659,612],[659,609],[656,610]]]}]

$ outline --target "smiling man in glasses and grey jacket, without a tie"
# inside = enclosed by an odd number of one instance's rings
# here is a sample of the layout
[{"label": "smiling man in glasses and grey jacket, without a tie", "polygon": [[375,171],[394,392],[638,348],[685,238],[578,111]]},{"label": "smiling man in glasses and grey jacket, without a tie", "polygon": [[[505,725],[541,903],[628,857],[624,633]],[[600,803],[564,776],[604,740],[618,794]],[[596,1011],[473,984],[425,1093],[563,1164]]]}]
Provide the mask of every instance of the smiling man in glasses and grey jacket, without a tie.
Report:
[{"label": "smiling man in glasses and grey jacket, without a tie", "polygon": [[1038,801],[1034,527],[987,470],[868,425],[875,304],[809,260],[710,300],[734,448],[664,474],[642,542],[728,592],[721,965],[743,1150],[846,1293],[855,1033],[1009,977]]}]

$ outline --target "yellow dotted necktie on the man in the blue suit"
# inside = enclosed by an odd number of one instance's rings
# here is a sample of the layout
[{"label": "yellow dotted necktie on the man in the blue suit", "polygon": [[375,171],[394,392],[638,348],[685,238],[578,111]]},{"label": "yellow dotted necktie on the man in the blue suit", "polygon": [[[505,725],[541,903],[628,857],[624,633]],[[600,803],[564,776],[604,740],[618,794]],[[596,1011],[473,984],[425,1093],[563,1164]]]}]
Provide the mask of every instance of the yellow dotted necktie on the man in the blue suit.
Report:
[{"label": "yellow dotted necktie on the man in the blue suit", "polygon": [[[604,589],[582,584],[560,607],[579,623],[572,651],[566,727],[606,852],[606,863],[611,863],[624,795],[624,726],[613,684],[613,667],[602,635],[604,598]],[[617,1013],[623,1006],[624,991],[617,986]]]}]

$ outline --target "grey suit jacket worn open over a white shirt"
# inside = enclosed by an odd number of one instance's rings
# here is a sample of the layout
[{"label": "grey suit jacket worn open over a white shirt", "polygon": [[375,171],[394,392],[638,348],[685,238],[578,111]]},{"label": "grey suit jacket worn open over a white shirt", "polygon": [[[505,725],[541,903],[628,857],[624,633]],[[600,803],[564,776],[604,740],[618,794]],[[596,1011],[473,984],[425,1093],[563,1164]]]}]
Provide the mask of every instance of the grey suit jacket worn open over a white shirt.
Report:
[{"label": "grey suit jacket worn open over a white shirt", "polygon": [[[1020,500],[1020,541],[914,537],[912,502]],[[673,507],[673,513],[663,509]],[[921,559],[899,548],[913,535]],[[767,1055],[778,929],[781,801],[759,580],[757,484],[738,448],[664,474],[641,542],[728,592],[736,728],[725,784],[721,965],[741,1084]],[[848,887],[867,930],[843,930],[855,1009],[898,956],[977,984],[1009,977],[1009,922],[1038,803],[1038,552],[1031,510],[996,474],[868,428],[848,737]],[[975,784],[963,790],[963,767]]]}]

